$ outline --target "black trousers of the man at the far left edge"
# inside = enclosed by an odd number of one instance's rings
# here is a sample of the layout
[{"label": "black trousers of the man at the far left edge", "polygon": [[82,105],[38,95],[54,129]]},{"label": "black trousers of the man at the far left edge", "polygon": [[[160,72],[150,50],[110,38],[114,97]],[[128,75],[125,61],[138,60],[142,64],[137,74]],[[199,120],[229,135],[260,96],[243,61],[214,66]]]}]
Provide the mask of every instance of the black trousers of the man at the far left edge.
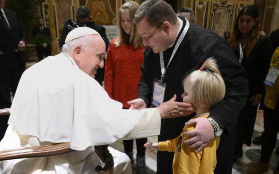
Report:
[{"label": "black trousers of the man at the far left edge", "polygon": [[[11,69],[0,70],[0,109],[11,106],[10,91],[15,94],[18,82],[25,66],[20,60],[19,53],[15,53],[16,61],[14,61]],[[0,55],[0,59],[4,55]],[[8,115],[0,116],[0,140],[4,137],[7,128]]]}]

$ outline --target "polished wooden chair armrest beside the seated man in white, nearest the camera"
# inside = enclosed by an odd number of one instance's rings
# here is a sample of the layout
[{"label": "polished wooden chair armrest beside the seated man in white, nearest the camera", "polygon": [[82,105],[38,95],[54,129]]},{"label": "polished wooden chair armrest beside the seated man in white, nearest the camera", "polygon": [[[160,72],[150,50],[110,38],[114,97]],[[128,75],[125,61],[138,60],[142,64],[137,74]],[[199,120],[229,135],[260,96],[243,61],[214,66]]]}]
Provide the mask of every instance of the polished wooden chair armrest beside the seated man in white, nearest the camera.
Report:
[{"label": "polished wooden chair armrest beside the seated man in white, nearest the camera", "polygon": [[34,146],[26,148],[0,151],[0,161],[19,158],[45,157],[72,152],[70,143],[57,143],[52,145]]}]

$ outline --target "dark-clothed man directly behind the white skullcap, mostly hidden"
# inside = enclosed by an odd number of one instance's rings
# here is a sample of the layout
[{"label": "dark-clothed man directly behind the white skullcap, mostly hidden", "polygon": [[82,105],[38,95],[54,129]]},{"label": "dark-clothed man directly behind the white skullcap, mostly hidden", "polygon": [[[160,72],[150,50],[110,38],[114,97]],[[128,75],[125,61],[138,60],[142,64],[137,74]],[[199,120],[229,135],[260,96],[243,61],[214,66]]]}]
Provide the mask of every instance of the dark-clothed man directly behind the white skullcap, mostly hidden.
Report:
[{"label": "dark-clothed man directly behind the white skullcap, mostly hidden", "polygon": [[[89,28],[96,30],[102,36],[103,40],[105,41],[106,51],[107,51],[110,41],[106,35],[106,28],[104,28],[102,25],[90,20],[92,18],[91,14],[90,14],[90,10],[86,6],[80,6],[77,8],[76,17],[77,17],[77,25],[79,27],[87,26]],[[67,34],[70,32],[68,29],[68,25],[69,25],[69,22],[66,22],[64,24],[62,35],[59,40],[60,48],[62,48],[62,46],[64,45],[65,38],[66,38]],[[105,67],[105,63],[106,63],[106,61],[104,59],[104,67]],[[104,81],[104,75],[105,75],[104,68],[99,68],[97,74],[95,75],[95,80],[97,82],[99,82],[99,84],[101,86],[102,86],[102,82]]]}]

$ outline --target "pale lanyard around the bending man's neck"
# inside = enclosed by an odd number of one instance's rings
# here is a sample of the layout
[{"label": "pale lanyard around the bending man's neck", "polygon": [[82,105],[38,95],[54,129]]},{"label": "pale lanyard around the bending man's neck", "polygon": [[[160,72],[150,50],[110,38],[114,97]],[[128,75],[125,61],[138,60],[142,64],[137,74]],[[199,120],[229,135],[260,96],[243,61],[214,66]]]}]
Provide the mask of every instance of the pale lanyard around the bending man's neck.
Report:
[{"label": "pale lanyard around the bending man's neck", "polygon": [[166,69],[167,69],[169,63],[171,62],[171,60],[172,60],[174,54],[176,53],[176,51],[177,51],[177,49],[178,49],[180,43],[182,42],[184,36],[186,35],[186,33],[187,33],[188,29],[189,29],[189,21],[188,21],[187,19],[186,19],[186,21],[187,21],[187,22],[186,22],[186,25],[185,25],[185,27],[184,27],[184,29],[183,29],[181,35],[179,36],[178,41],[177,41],[176,44],[175,44],[174,50],[173,50],[173,52],[172,52],[172,54],[171,54],[171,56],[170,56],[170,59],[169,59],[169,61],[168,61],[168,64],[167,64],[166,68],[165,68],[165,65],[164,65],[163,53],[160,52],[160,66],[161,66],[161,73],[162,73],[161,80],[165,77],[165,71],[166,71]]}]

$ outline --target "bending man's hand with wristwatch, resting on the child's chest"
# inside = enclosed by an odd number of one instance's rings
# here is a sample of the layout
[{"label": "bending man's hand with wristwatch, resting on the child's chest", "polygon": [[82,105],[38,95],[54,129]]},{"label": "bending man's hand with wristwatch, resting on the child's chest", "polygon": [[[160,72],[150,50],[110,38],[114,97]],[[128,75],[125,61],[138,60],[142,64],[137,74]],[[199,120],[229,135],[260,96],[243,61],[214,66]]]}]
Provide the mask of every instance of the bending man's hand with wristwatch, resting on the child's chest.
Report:
[{"label": "bending man's hand with wristwatch, resting on the child's chest", "polygon": [[206,118],[194,118],[185,123],[186,126],[195,126],[195,129],[187,132],[183,132],[184,136],[190,137],[184,144],[189,146],[189,149],[196,149],[196,153],[202,151],[202,149],[211,142],[214,137],[214,129]]}]

